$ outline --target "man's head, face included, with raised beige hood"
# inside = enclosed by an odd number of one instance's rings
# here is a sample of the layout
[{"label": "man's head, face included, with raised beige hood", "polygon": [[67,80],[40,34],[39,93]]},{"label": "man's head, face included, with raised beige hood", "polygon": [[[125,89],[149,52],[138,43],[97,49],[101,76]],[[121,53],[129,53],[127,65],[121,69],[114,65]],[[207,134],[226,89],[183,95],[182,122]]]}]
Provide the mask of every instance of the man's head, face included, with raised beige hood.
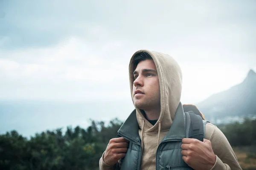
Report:
[{"label": "man's head, face included, with raised beige hood", "polygon": [[[129,77],[139,126],[145,123],[143,128],[148,132],[169,130],[180,103],[182,89],[182,73],[177,62],[167,54],[140,50],[131,57]],[[144,110],[152,109],[158,111],[156,114],[159,116],[154,126],[145,119],[143,113]]]}]

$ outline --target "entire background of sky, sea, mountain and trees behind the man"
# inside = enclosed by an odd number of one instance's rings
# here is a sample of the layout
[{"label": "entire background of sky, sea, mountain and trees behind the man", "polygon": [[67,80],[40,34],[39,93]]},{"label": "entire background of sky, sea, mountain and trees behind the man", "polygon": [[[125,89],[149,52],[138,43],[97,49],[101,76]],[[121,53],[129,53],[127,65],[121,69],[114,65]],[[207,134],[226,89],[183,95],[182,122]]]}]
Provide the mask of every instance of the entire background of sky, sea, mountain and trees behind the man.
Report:
[{"label": "entire background of sky, sea, mountain and trees behind the man", "polygon": [[256,169],[255,17],[254,0],[0,0],[0,169],[97,169],[140,49],[177,60],[181,102]]}]

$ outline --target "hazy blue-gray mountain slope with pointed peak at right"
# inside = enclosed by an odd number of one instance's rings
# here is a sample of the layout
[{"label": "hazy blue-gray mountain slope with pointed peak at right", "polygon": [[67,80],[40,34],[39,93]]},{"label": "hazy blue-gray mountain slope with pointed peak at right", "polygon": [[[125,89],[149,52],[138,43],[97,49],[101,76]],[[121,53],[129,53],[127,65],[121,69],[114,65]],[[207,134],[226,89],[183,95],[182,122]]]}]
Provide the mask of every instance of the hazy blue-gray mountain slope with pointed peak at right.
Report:
[{"label": "hazy blue-gray mountain slope with pointed peak at right", "polygon": [[240,121],[256,117],[256,73],[250,70],[238,85],[214,94],[197,104],[206,119],[213,123]]}]

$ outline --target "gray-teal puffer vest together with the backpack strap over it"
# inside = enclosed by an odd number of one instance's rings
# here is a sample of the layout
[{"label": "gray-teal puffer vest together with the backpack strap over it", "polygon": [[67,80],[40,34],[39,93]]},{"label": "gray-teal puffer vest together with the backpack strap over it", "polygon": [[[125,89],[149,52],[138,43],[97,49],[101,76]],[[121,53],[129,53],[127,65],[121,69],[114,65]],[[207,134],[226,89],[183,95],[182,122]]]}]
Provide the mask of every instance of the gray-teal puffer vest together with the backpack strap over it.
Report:
[{"label": "gray-teal puffer vest together with the backpack strap over it", "polygon": [[[167,135],[160,142],[156,153],[156,170],[192,170],[182,159],[183,138],[203,140],[205,125],[201,116],[193,112],[183,112],[182,105],[177,108],[175,119]],[[118,137],[130,141],[126,156],[121,160],[121,170],[140,170],[141,140],[134,110],[118,130]]]}]

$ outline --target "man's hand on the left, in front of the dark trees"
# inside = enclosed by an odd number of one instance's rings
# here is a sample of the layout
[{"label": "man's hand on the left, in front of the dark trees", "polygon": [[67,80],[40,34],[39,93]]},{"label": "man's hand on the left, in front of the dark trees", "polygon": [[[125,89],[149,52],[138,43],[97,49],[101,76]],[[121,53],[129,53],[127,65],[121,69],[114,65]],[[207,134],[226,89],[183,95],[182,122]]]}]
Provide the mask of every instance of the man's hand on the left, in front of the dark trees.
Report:
[{"label": "man's hand on the left, in front of the dark trees", "polygon": [[122,137],[110,139],[103,160],[109,165],[116,164],[119,159],[125,157],[128,146],[129,141]]}]

